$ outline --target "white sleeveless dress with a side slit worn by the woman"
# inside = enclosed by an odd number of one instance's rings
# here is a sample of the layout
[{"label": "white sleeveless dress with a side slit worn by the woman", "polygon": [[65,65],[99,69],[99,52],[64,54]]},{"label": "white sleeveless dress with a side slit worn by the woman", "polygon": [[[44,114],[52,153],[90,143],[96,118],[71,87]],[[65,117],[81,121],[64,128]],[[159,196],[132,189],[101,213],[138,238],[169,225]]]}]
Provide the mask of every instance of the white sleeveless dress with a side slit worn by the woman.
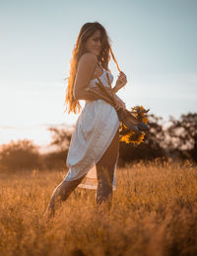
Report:
[{"label": "white sleeveless dress with a side slit worn by the woman", "polygon": [[[106,77],[108,71],[104,68],[102,70],[103,73],[99,79],[104,86],[109,87]],[[108,72],[108,76],[112,83],[112,74]],[[91,80],[89,86],[97,87],[96,82],[99,82],[97,78]],[[66,160],[69,170],[64,180],[76,180],[87,174],[79,187],[97,189],[96,164],[109,146],[118,128],[117,113],[111,105],[101,99],[86,101],[71,137]],[[116,188],[117,160],[114,167],[113,189]]]}]

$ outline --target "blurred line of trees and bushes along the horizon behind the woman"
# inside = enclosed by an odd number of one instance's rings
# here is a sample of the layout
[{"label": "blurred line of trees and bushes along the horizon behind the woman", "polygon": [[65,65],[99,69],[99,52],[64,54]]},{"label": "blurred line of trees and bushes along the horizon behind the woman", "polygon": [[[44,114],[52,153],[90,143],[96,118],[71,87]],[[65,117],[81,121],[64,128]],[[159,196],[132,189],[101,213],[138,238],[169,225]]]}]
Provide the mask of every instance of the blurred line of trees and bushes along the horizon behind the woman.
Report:
[{"label": "blurred line of trees and bushes along the horizon behind the woman", "polygon": [[[197,113],[173,117],[164,123],[163,118],[149,115],[150,132],[140,145],[120,141],[118,166],[136,161],[159,159],[161,163],[190,160],[197,164]],[[167,124],[167,126],[166,126]],[[165,126],[164,126],[165,125]],[[33,169],[64,169],[72,136],[67,128],[48,128],[50,146],[55,149],[40,153],[37,145],[28,139],[11,141],[0,149],[0,171],[15,172]]]}]

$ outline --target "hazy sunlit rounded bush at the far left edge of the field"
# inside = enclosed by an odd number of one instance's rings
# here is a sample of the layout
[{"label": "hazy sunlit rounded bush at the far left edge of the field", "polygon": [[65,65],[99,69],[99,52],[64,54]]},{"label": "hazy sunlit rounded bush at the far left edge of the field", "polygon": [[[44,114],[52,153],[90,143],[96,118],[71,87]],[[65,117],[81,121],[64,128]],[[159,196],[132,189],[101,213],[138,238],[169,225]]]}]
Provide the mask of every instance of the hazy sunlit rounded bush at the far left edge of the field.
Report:
[{"label": "hazy sunlit rounded bush at the far left edge of the field", "polygon": [[0,150],[0,169],[15,172],[42,166],[38,148],[28,139],[3,144]]}]

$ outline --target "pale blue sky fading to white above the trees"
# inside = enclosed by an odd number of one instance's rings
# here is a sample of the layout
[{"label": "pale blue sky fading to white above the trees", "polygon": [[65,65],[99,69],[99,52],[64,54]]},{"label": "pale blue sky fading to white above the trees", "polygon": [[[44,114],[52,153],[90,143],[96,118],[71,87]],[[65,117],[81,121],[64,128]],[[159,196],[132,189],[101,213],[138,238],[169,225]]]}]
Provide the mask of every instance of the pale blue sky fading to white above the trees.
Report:
[{"label": "pale blue sky fading to white above the trees", "polygon": [[[79,114],[64,113],[64,79],[87,22],[111,40],[127,109],[143,105],[164,121],[197,112],[196,13],[196,0],[0,0],[0,144],[47,144],[47,128],[76,124]],[[114,86],[112,58],[109,69]]]}]

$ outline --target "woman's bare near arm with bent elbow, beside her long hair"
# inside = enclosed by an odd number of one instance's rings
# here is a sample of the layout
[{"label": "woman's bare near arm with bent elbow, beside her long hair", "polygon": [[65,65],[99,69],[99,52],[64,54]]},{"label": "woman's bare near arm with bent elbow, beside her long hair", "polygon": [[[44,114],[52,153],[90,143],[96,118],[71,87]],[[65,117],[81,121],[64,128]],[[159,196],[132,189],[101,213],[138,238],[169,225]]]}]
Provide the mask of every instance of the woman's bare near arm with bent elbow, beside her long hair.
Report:
[{"label": "woman's bare near arm with bent elbow, beside her long hair", "polygon": [[[84,53],[78,63],[75,83],[74,83],[74,97],[76,100],[89,100],[95,101],[101,99],[99,95],[87,90],[91,79],[94,77],[98,58],[91,52]],[[98,87],[94,90],[102,94]]]}]

